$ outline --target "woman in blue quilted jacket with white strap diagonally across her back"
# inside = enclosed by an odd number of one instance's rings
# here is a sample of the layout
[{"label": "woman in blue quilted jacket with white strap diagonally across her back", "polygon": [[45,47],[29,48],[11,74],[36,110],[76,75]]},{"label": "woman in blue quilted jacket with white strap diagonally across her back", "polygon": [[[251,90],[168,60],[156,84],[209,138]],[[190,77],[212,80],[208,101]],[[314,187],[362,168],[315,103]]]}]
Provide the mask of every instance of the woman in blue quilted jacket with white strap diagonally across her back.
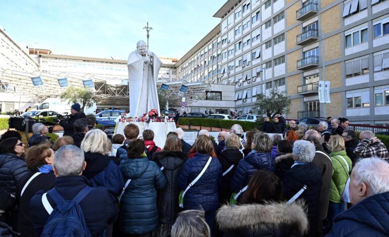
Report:
[{"label": "woman in blue quilted jacket with white strap diagonally across her back", "polygon": [[[178,178],[178,187],[185,190],[186,187],[200,174],[205,167],[213,149],[210,137],[200,135],[194,146],[197,153],[187,160]],[[212,157],[211,163],[200,179],[189,188],[184,195],[183,207],[185,210],[197,209],[205,211],[205,219],[212,230],[213,221],[218,208],[218,188],[222,184],[222,167],[217,158]]]}]

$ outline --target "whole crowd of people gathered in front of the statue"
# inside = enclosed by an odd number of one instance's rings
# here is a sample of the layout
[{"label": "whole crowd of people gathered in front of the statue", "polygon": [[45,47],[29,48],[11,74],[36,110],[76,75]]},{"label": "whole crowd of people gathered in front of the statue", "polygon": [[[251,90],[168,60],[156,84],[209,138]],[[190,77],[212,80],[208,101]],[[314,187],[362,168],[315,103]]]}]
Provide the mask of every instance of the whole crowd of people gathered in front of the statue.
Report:
[{"label": "whole crowd of people gathered in front of the statue", "polygon": [[281,115],[284,139],[234,125],[192,146],[178,128],[158,147],[152,130],[129,124],[111,141],[76,116],[54,144],[34,124],[27,152],[18,132],[1,137],[10,236],[389,235],[389,154],[373,132],[340,129],[346,121],[296,129]]}]

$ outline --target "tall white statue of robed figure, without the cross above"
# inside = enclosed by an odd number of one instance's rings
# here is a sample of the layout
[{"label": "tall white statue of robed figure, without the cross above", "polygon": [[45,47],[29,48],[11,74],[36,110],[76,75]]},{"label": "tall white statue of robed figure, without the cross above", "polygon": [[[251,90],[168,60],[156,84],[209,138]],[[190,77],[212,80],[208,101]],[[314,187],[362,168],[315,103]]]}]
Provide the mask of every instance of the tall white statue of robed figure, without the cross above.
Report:
[{"label": "tall white statue of robed figure, without the cross above", "polygon": [[143,40],[136,44],[137,50],[128,56],[128,90],[130,95],[129,115],[143,115],[155,108],[161,114],[157,79],[162,62],[153,52],[147,49]]}]

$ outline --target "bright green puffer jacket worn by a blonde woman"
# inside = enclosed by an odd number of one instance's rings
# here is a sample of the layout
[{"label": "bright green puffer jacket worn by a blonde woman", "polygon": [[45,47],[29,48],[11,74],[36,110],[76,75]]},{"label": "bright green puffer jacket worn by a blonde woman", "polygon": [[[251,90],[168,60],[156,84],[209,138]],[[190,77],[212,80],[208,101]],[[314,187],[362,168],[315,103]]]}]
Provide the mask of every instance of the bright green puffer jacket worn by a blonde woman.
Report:
[{"label": "bright green puffer jacket worn by a blonde woman", "polygon": [[[345,161],[338,155],[342,156],[348,165],[346,165]],[[332,180],[329,201],[342,203],[342,195],[345,191],[347,179],[350,177],[352,162],[347,156],[346,150],[331,152],[329,157],[332,161]]]}]

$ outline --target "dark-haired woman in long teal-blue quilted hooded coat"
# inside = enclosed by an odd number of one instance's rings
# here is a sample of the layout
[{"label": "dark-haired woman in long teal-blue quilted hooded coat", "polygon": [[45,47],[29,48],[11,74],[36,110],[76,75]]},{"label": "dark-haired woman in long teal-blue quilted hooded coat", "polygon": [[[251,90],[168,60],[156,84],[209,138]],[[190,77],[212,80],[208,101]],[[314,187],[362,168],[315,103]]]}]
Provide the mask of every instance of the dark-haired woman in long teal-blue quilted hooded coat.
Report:
[{"label": "dark-haired woman in long teal-blue quilted hooded coat", "polygon": [[144,142],[135,139],[128,143],[128,158],[120,161],[120,169],[128,184],[120,200],[122,236],[141,234],[152,236],[158,227],[157,190],[166,185],[160,167],[144,154]]}]

